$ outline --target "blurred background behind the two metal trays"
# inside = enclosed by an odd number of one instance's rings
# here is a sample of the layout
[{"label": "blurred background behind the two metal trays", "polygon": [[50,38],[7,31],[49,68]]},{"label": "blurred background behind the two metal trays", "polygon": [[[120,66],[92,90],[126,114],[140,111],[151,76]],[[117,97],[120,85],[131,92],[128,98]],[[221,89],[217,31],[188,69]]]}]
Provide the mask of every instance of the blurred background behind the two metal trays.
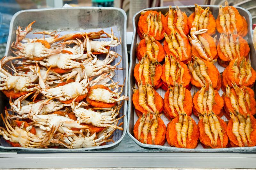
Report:
[{"label": "blurred background behind the two metal trays", "polygon": [[[252,14],[256,23],[256,0],[228,0],[230,5],[241,6]],[[38,8],[60,8],[70,6],[106,6],[122,8],[127,14],[127,31],[132,32],[133,15],[148,7],[168,5],[220,5],[225,0],[0,0],[0,56],[4,56],[12,16],[20,10]]]}]

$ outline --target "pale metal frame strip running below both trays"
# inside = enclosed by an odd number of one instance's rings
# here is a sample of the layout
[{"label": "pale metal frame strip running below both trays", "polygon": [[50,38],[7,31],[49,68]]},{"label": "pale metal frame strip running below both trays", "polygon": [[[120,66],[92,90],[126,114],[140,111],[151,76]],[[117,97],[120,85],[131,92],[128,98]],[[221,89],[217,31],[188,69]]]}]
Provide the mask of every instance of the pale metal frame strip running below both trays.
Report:
[{"label": "pale metal frame strip running below both trays", "polygon": [[0,157],[0,168],[256,167],[256,154],[238,153],[3,153]]}]

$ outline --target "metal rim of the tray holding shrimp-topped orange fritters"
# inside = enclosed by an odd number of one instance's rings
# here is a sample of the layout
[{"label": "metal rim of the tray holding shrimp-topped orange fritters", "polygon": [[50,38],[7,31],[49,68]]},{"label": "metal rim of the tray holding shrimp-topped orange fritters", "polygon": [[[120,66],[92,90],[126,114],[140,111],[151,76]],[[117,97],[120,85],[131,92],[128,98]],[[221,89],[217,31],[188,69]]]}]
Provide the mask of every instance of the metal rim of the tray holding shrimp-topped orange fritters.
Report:
[{"label": "metal rim of the tray holding shrimp-topped orange fritters", "polygon": [[[219,7],[218,5],[200,5],[202,7]],[[179,6],[180,8],[191,8],[191,7],[194,7],[194,5],[183,5],[183,6]],[[237,9],[241,9],[243,10],[244,12],[246,12],[249,16],[249,23],[248,23],[248,27],[250,28],[248,30],[248,34],[251,35],[252,37],[252,16],[251,16],[251,13],[242,8],[242,7],[238,7],[236,6]],[[131,51],[132,49],[134,48],[134,46],[136,46],[136,43],[134,44],[135,42],[135,38],[136,38],[136,30],[137,30],[137,27],[136,27],[136,24],[135,24],[135,17],[137,15],[140,15],[140,12],[142,11],[147,11],[147,10],[166,10],[168,9],[168,7],[154,7],[154,8],[146,8],[146,9],[143,9],[139,12],[137,12],[133,18],[132,18],[132,25],[133,25],[133,35],[132,35],[132,45],[131,45]],[[132,52],[130,53],[130,67],[129,67],[129,81],[128,81],[128,84],[131,85],[131,78],[133,78],[133,75],[131,74],[131,70],[132,70],[132,63],[133,60],[132,60]],[[130,94],[131,92],[131,88],[128,89],[128,94]],[[244,150],[247,150],[247,151],[250,151],[250,152],[255,152],[256,151],[256,146],[253,146],[253,147],[236,147],[236,148],[211,148],[211,149],[187,149],[187,148],[176,148],[176,147],[172,147],[172,146],[161,146],[161,145],[153,145],[153,144],[143,144],[141,142],[139,142],[135,137],[133,137],[133,135],[130,133],[130,121],[131,121],[131,109],[133,109],[132,107],[132,99],[130,97],[129,99],[129,103],[128,103],[128,124],[127,124],[127,134],[129,135],[129,137],[132,138],[132,140],[138,144],[140,147],[142,148],[154,148],[154,149],[164,149],[164,151],[166,152],[242,152]]]}]

